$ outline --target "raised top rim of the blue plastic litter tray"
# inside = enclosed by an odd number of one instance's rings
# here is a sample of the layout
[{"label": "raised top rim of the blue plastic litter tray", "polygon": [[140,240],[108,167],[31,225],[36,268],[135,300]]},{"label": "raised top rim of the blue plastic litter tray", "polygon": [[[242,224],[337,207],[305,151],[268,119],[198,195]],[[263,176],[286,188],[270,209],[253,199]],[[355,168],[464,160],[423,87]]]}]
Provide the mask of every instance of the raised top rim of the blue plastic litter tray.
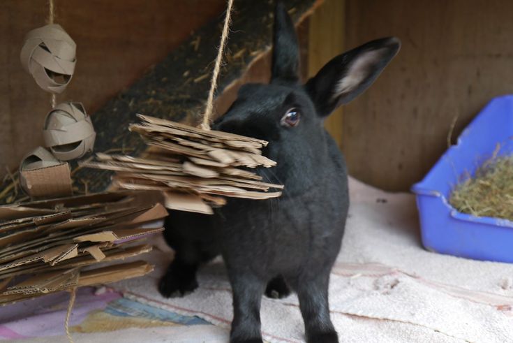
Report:
[{"label": "raised top rim of the blue plastic litter tray", "polygon": [[[485,106],[485,108],[488,107],[494,101],[500,101],[501,98],[513,98],[513,95],[498,96],[496,98],[493,98]],[[439,163],[443,163],[443,159],[450,152],[452,152],[454,149],[459,149],[459,147],[461,146],[461,143],[463,141],[464,136],[466,136],[467,133],[468,133],[468,129],[471,126],[473,126],[473,124],[477,121],[480,113],[481,112],[479,112],[479,114],[477,114],[475,116],[475,118],[470,122],[470,124],[468,124],[466,126],[466,128],[463,129],[463,131],[461,132],[461,134],[458,136],[458,138],[456,140],[456,144],[451,145],[451,147],[449,147],[449,149],[447,149],[444,152],[444,154],[442,156],[440,156],[440,158],[438,159],[438,161],[436,161],[436,163],[433,165],[433,167],[431,167],[431,169],[426,174],[426,176],[424,176],[422,181],[413,184],[410,190],[417,197],[418,196],[434,196],[436,198],[440,198],[440,201],[442,201],[443,204],[445,205],[445,207],[447,207],[447,210],[448,210],[449,214],[454,219],[458,219],[458,220],[461,220],[461,221],[470,221],[471,223],[474,223],[474,224],[485,224],[485,225],[491,225],[491,226],[502,226],[502,227],[507,227],[507,228],[513,228],[513,221],[510,221],[508,219],[502,219],[502,218],[496,218],[496,217],[477,217],[477,216],[474,216],[472,214],[466,214],[466,213],[463,213],[463,212],[459,212],[454,207],[452,207],[452,205],[449,203],[449,201],[447,201],[447,198],[445,198],[445,196],[440,191],[437,191],[436,189],[428,189],[427,187],[424,187],[424,183],[425,183],[426,178],[429,177],[429,175],[431,173],[433,173],[433,170],[436,169],[436,166],[438,166]]]}]

